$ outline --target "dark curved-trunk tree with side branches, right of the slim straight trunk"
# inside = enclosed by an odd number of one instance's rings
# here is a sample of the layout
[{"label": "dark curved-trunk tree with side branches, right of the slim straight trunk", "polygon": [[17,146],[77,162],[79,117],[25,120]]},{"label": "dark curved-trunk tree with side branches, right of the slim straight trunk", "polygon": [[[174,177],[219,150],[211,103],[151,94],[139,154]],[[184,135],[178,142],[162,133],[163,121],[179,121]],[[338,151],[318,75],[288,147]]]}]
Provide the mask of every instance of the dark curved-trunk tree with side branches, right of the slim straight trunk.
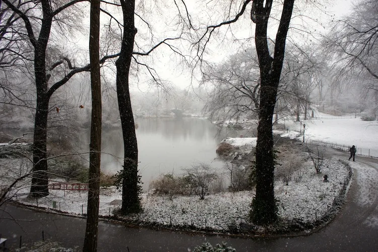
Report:
[{"label": "dark curved-trunk tree with side branches, right of the slim straight trunk", "polygon": [[[150,74],[151,78],[155,83],[162,86],[162,81],[157,75],[156,71],[150,67],[148,64],[143,63],[138,59],[138,56],[148,56],[156,48],[161,45],[166,45],[168,48],[179,56],[182,53],[178,48],[172,44],[170,41],[177,40],[180,35],[173,38],[164,38],[158,43],[149,47],[147,51],[143,50],[138,46],[138,50],[133,51],[135,42],[135,36],[137,34],[137,28],[135,27],[135,16],[142,19],[140,15],[135,15],[135,1],[125,1],[120,0],[118,4],[112,4],[119,6],[122,9],[122,22],[116,21],[116,27],[120,30],[121,47],[119,54],[117,54],[118,59],[115,62],[116,66],[116,88],[117,88],[117,100],[119,116],[122,127],[123,136],[123,147],[124,147],[124,159],[123,159],[123,170],[120,171],[118,177],[122,180],[122,213],[136,213],[141,210],[140,197],[141,192],[140,186],[140,176],[138,175],[138,143],[137,136],[135,133],[135,123],[133,117],[133,109],[130,98],[130,69],[132,66],[132,61],[137,64],[136,71],[139,71],[139,67],[146,69],[147,73]],[[110,13],[106,12],[110,15]],[[110,15],[111,16],[111,15]],[[111,16],[111,19],[113,17]],[[115,19],[116,20],[116,19]],[[147,24],[149,32],[152,32],[151,26],[142,19],[144,23]],[[180,33],[180,32],[179,32]],[[138,74],[137,74],[138,75]]]}]

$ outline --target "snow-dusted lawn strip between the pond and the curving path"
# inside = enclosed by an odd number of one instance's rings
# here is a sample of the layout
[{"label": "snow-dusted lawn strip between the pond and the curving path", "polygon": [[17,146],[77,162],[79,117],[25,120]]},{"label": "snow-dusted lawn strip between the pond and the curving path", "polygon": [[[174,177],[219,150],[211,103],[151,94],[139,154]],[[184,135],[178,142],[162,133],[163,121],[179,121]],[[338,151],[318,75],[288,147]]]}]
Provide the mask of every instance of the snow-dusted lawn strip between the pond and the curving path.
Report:
[{"label": "snow-dusted lawn strip between the pond and the curving path", "polygon": [[[2,184],[8,184],[11,176],[18,173],[5,172],[17,170],[20,160],[2,159]],[[11,166],[11,164],[13,164]],[[299,219],[302,222],[314,222],[325,216],[338,198],[348,176],[348,167],[336,160],[325,160],[321,174],[316,174],[310,161],[301,169],[302,177],[299,181],[284,185],[282,181],[275,183],[275,195],[279,200],[279,217],[283,220]],[[329,182],[323,182],[324,174]],[[7,180],[4,179],[7,177]],[[56,183],[57,181],[50,181]],[[14,200],[23,204],[60,210],[74,215],[86,214],[87,192],[70,190],[51,190],[46,197],[32,199],[27,197],[30,180],[20,183],[10,195]],[[145,193],[142,195],[144,212],[131,215],[125,219],[137,223],[158,224],[162,226],[184,226],[195,229],[210,228],[227,232],[230,225],[240,227],[240,223],[248,222],[249,205],[255,191],[223,192],[212,194],[200,200],[199,196],[159,196]],[[100,215],[113,216],[113,210],[120,207],[121,193],[113,186],[101,188]],[[55,202],[55,203],[54,203]]]}]

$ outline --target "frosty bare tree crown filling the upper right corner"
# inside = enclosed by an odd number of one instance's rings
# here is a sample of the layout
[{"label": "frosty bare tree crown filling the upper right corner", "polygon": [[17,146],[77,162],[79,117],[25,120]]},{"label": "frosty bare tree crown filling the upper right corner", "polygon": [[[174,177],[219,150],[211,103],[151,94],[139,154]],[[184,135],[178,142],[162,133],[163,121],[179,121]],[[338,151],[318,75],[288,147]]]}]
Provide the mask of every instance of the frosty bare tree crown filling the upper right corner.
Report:
[{"label": "frosty bare tree crown filling the upper right corner", "polygon": [[[347,16],[337,20],[324,37],[325,52],[333,57],[338,78],[358,76],[351,83],[359,86],[363,97],[377,90],[378,3],[360,0]],[[364,80],[361,82],[361,80]],[[372,100],[374,103],[374,99]],[[378,103],[375,103],[378,108]],[[374,108],[372,109],[374,111]]]}]

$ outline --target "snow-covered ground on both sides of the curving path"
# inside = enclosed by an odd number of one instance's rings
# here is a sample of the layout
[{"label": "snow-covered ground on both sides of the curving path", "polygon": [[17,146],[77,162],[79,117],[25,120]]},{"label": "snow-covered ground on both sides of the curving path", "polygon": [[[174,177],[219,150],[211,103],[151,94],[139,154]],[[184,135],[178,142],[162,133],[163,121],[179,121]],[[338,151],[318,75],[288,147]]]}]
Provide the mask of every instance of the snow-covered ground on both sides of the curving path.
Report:
[{"label": "snow-covered ground on both sides of the curving path", "polygon": [[[374,141],[378,139],[376,126],[367,126],[367,122],[359,118],[313,119],[305,123],[306,139],[328,140],[341,144],[371,147],[371,149],[375,147]],[[288,130],[275,133],[291,138],[297,137],[299,123],[286,120],[285,126]],[[244,149],[256,146],[256,138],[227,138],[224,141]],[[25,173],[26,162],[22,164],[20,160],[0,160],[2,173],[0,179],[3,186]],[[368,183],[378,183],[374,180],[378,178],[376,170],[358,162],[349,162],[349,164],[352,168],[358,169],[358,179],[366,180]],[[19,171],[20,167],[24,167],[24,170]],[[287,220],[300,219],[312,222],[322,218],[331,208],[335,197],[344,186],[348,168],[336,160],[325,160],[321,174],[316,173],[310,162],[305,163],[301,171],[300,181],[292,180],[289,185],[284,185],[280,181],[275,183],[275,195],[279,200],[279,216]],[[324,174],[328,175],[329,182],[323,182]],[[360,189],[364,190],[363,183],[361,184]],[[71,214],[81,215],[87,211],[87,192],[85,191],[50,190],[50,195],[38,199],[37,203],[36,199],[27,197],[29,186],[30,180],[23,181],[10,195],[24,204],[38,204],[39,207],[50,209],[55,205],[56,210]],[[206,225],[206,227],[224,231],[229,228],[229,225],[247,222],[249,205],[254,195],[255,191],[223,192],[208,195],[205,200],[200,200],[198,196],[168,197],[143,194],[144,212],[130,218],[161,225],[193,225],[197,228],[205,228]],[[361,206],[373,200],[367,191],[360,195],[364,195],[359,199]],[[114,187],[102,188],[100,215],[113,215],[113,210],[119,208],[120,200],[121,193]],[[378,219],[371,221],[378,222]]]}]

